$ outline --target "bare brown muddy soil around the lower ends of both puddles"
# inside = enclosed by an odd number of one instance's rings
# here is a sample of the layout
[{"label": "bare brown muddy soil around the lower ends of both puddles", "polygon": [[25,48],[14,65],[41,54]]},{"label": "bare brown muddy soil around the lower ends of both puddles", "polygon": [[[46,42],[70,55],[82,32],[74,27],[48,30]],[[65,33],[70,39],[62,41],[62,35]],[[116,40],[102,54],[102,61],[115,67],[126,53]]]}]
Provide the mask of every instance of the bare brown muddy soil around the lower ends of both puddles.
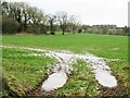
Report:
[{"label": "bare brown muddy soil around the lower ends of both puddles", "polygon": [[[99,97],[95,98],[130,98],[130,95],[128,93],[128,89],[130,88],[130,85],[125,85],[121,78],[119,78],[118,75],[115,75],[116,78],[118,79],[118,85],[113,88],[108,87],[103,87],[101,86],[99,90],[101,90],[101,94]],[[47,79],[47,76],[43,77]],[[26,93],[25,96],[31,96],[31,97],[43,97],[43,98],[54,98],[55,91],[46,91],[41,89],[42,82],[39,83],[35,88],[30,89],[29,91]],[[14,96],[13,96],[14,97]],[[68,98],[69,96],[67,95],[66,97],[63,95],[62,97]]]}]

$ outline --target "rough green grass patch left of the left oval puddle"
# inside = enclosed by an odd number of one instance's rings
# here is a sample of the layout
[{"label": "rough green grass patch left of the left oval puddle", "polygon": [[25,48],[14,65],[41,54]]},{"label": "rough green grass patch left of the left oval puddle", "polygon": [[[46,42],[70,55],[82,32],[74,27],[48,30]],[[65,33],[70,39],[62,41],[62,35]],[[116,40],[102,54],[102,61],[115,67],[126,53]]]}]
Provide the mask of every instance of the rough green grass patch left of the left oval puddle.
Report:
[{"label": "rough green grass patch left of the left oval puddle", "polygon": [[[25,95],[27,90],[38,85],[47,76],[51,63],[54,62],[48,57],[29,56],[31,53],[38,52],[2,49],[3,78],[6,86],[16,95]],[[3,89],[3,95],[6,95],[8,91],[8,89]]]}]

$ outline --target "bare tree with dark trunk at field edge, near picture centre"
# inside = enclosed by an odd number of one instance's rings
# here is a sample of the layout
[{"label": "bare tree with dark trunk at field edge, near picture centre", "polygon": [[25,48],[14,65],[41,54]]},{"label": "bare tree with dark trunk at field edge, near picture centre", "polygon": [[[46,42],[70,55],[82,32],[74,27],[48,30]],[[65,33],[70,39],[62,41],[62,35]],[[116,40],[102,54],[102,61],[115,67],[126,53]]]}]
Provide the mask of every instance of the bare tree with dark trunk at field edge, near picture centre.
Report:
[{"label": "bare tree with dark trunk at field edge, near picture centre", "polygon": [[62,28],[62,35],[64,35],[65,29],[67,28],[68,24],[68,15],[67,12],[60,11],[56,13],[57,21],[60,23],[60,27]]}]

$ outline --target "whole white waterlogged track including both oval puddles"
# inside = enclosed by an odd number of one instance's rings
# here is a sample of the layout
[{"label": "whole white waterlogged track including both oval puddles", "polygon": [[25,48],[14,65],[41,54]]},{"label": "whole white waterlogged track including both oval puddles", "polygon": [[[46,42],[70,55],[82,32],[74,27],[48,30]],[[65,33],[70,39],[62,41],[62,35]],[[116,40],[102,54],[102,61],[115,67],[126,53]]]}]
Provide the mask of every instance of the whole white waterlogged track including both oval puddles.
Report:
[{"label": "whole white waterlogged track including both oval puddles", "polygon": [[78,59],[82,59],[87,63],[90,63],[90,66],[93,69],[92,72],[95,74],[95,79],[99,82],[99,84],[105,87],[117,86],[117,81],[115,76],[110,74],[110,68],[106,65],[103,58],[99,58],[93,54],[75,54],[70,52],[51,51],[25,47],[6,47],[6,46],[0,47],[40,51],[44,52],[47,57],[55,58],[58,61],[58,63],[53,65],[52,69],[53,73],[49,75],[47,81],[43,82],[42,89],[44,90],[50,91],[63,87],[67,81],[66,73],[69,74],[69,71],[73,70],[73,68],[70,68],[69,64]]}]

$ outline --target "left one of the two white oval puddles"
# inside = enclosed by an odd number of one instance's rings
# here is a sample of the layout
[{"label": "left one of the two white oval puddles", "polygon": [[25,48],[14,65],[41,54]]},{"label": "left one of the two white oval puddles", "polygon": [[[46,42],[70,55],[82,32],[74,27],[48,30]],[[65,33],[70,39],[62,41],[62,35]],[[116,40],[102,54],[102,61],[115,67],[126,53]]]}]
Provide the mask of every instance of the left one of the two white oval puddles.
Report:
[{"label": "left one of the two white oval puddles", "polygon": [[48,77],[47,81],[43,82],[42,89],[47,91],[57,89],[60,87],[63,87],[66,81],[67,81],[66,73],[64,72],[53,73]]}]

